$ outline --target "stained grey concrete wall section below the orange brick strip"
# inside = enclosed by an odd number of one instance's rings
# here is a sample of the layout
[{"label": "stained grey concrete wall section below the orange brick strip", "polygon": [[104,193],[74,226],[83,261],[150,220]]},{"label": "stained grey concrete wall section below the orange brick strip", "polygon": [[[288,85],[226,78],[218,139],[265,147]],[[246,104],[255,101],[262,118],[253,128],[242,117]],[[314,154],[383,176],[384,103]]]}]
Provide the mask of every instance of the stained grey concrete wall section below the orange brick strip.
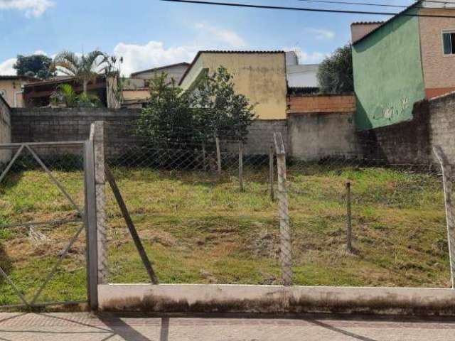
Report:
[{"label": "stained grey concrete wall section below the orange brick strip", "polygon": [[305,161],[359,156],[354,113],[289,114],[289,152]]}]

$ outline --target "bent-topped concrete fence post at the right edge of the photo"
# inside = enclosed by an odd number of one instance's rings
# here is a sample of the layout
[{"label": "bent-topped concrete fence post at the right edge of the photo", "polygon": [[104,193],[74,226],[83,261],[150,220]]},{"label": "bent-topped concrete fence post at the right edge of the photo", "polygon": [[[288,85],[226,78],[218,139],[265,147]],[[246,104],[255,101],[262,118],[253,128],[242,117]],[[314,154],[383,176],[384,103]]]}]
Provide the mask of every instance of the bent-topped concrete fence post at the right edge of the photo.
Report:
[{"label": "bent-topped concrete fence post at the right edge of the photo", "polygon": [[441,164],[442,181],[444,186],[444,203],[446,206],[446,223],[447,223],[447,242],[449,244],[449,263],[450,263],[450,279],[451,286],[455,288],[455,256],[454,256],[454,237],[455,237],[455,212],[454,204],[452,202],[452,180],[453,169],[449,163],[446,154],[442,151],[440,146],[433,148],[434,155]]}]

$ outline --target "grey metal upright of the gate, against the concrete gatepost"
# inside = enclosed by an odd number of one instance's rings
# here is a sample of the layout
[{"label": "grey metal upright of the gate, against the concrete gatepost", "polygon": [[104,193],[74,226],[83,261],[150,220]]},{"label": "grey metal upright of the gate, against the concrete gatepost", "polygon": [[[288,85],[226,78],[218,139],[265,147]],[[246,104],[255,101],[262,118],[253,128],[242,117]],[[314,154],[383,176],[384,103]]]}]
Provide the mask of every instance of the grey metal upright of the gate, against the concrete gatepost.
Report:
[{"label": "grey metal upright of the gate, against the concrete gatepost", "polygon": [[97,202],[93,141],[84,144],[85,235],[87,243],[87,296],[90,310],[98,309]]}]

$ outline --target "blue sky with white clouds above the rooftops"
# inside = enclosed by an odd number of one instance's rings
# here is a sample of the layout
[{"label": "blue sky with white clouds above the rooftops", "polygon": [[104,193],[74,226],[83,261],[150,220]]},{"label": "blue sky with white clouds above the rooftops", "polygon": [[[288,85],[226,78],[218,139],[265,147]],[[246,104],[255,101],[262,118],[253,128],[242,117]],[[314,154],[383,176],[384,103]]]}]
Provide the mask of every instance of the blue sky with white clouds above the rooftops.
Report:
[{"label": "blue sky with white clouds above the rooftops", "polygon": [[[395,12],[373,6],[300,0],[223,0],[248,4]],[[352,0],[351,0],[352,1]],[[360,0],[354,0],[360,1]],[[365,1],[365,0],[364,0]],[[412,0],[369,0],[409,5]],[[0,0],[0,75],[14,75],[16,55],[99,49],[122,56],[122,73],[191,62],[198,50],[296,50],[319,63],[350,41],[353,21],[389,16],[241,9],[160,0]]]}]

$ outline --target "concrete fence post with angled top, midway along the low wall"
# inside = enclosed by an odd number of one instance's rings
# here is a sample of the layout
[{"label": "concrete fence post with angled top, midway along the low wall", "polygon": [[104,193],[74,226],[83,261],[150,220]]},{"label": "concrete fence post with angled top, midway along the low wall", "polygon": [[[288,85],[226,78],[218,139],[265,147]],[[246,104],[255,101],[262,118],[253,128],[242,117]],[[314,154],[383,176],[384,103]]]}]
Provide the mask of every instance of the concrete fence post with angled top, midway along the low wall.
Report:
[{"label": "concrete fence post with angled top, midway along the low wall", "polygon": [[281,133],[274,133],[275,149],[277,151],[278,170],[278,210],[280,233],[280,261],[282,279],[285,286],[292,285],[292,244],[291,227],[289,224],[288,193],[286,182],[286,151]]}]

